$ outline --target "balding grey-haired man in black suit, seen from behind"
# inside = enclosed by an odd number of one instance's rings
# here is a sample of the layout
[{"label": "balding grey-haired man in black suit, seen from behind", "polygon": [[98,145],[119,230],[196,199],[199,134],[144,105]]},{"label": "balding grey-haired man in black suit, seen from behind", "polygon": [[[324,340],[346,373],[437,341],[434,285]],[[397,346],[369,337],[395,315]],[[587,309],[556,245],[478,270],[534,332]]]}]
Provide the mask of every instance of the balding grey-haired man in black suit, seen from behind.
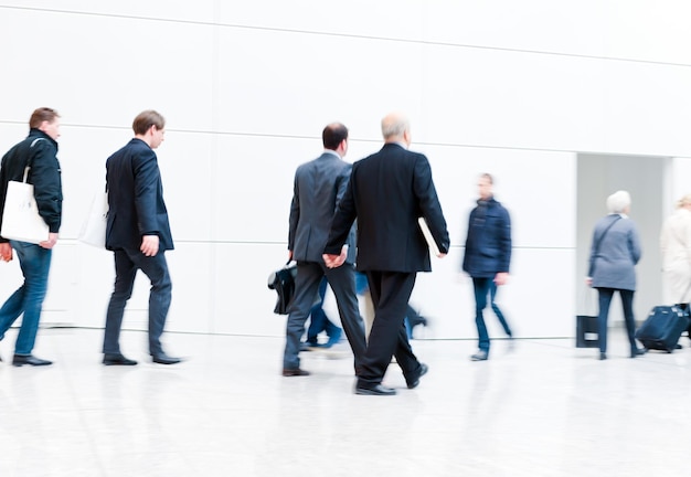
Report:
[{"label": "balding grey-haired man in black suit, seen from behind", "polygon": [[328,267],[344,262],[340,248],[357,218],[358,269],[368,276],[375,314],[355,393],[372,395],[396,393],[382,385],[392,356],[396,357],[410,389],[417,386],[427,372],[427,365],[413,354],[404,325],[416,273],[432,269],[417,219],[426,220],[439,257],[449,247],[429,162],[424,155],[407,150],[407,119],[400,114],[384,117],[382,134],[384,147],[353,165],[323,255]]}]

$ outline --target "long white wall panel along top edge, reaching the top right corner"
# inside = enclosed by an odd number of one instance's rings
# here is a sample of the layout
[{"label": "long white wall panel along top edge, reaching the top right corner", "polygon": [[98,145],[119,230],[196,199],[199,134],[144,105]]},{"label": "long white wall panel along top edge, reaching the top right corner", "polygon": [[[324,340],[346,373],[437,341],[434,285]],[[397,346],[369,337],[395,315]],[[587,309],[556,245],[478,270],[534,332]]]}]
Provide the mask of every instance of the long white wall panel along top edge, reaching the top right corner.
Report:
[{"label": "long white wall panel along top edge, reaching the top right corner", "polygon": [[216,2],[223,24],[668,63],[691,62],[689,15],[684,0]]}]

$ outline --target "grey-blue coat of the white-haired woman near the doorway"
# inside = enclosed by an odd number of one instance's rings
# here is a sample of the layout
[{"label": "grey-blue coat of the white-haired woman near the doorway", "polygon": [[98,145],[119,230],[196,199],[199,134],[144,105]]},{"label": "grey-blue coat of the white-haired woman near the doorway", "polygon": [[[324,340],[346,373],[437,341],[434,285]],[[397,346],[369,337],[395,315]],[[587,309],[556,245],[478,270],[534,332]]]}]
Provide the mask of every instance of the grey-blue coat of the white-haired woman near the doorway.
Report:
[{"label": "grey-blue coat of the white-haired woman near the doorway", "polygon": [[[593,288],[636,289],[636,264],[640,259],[640,239],[634,221],[624,216],[607,229],[618,214],[602,218],[595,224],[588,276]],[[602,241],[600,241],[602,239]],[[599,242],[599,250],[595,250]]]}]

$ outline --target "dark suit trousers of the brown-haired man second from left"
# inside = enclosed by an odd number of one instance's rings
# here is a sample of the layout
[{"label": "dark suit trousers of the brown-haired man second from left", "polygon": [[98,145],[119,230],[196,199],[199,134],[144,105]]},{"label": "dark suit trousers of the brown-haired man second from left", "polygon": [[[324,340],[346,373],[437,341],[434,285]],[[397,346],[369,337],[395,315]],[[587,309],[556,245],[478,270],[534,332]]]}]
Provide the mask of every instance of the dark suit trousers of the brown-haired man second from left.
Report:
[{"label": "dark suit trousers of the brown-haired man second from left", "polygon": [[110,295],[106,315],[106,332],[103,352],[120,353],[120,329],[127,300],[132,295],[135,276],[140,269],[151,280],[149,293],[149,353],[157,356],[163,352],[161,335],[166,326],[170,308],[172,283],[168,273],[166,254],[160,251],[155,256],[146,256],[138,250],[115,251],[115,289]]}]

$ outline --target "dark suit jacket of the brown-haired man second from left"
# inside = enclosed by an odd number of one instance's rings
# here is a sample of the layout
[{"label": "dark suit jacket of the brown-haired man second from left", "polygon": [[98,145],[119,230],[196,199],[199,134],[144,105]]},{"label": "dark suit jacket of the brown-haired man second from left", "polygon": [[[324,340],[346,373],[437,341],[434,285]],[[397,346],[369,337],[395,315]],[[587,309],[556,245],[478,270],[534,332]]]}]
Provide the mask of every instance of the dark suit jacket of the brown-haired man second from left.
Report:
[{"label": "dark suit jacket of the brown-haired man second from left", "polygon": [[134,138],[110,156],[106,161],[106,248],[139,250],[142,235],[158,235],[162,251],[173,248],[161,173],[149,145]]}]

